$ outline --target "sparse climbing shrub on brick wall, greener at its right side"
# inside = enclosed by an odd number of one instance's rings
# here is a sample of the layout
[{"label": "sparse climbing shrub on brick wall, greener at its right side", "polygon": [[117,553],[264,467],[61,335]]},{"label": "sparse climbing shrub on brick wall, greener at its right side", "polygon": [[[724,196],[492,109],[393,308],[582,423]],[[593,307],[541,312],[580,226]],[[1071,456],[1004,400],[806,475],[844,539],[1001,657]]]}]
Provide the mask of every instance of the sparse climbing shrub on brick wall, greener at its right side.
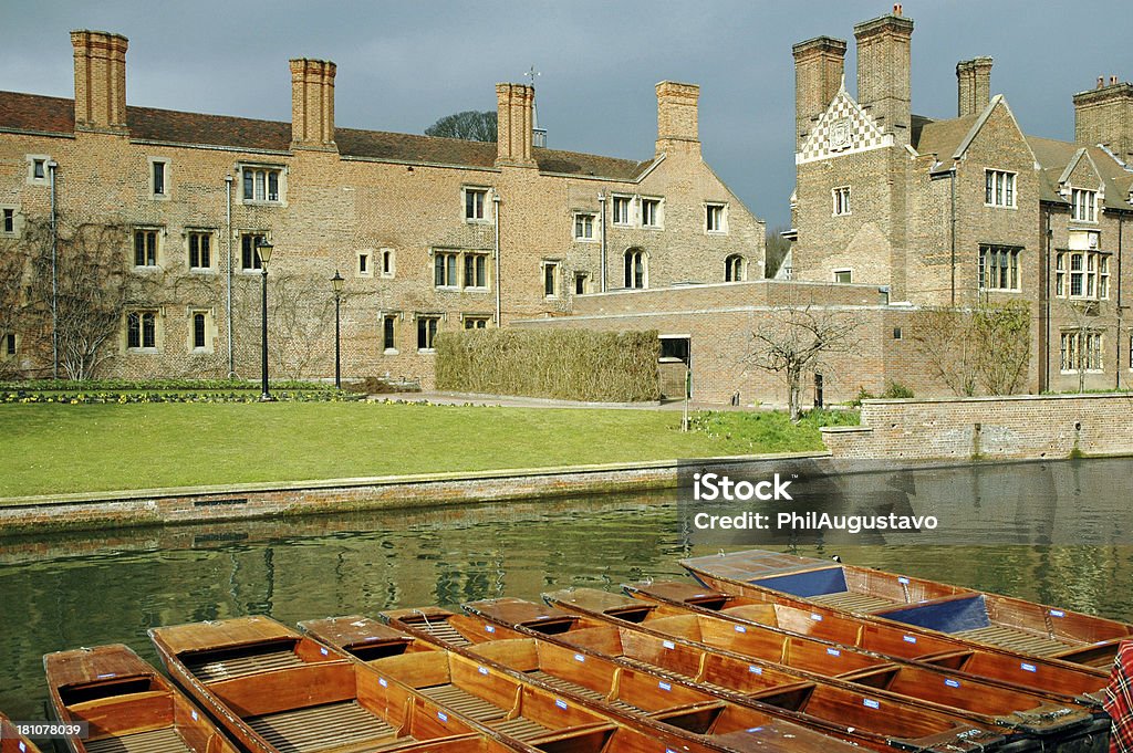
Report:
[{"label": "sparse climbing shrub on brick wall, greener at its right side", "polygon": [[957,395],[1011,395],[1026,384],[1031,309],[1024,301],[919,311],[912,339],[925,365]]}]

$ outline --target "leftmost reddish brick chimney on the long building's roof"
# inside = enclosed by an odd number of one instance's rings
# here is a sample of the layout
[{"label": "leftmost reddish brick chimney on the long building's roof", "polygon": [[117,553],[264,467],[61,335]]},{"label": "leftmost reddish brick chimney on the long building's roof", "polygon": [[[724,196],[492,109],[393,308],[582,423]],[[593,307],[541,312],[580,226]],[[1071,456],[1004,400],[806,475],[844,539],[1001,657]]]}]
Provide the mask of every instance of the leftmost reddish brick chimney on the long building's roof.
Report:
[{"label": "leftmost reddish brick chimney on the long building's roof", "polygon": [[127,134],[126,48],[120,34],[71,32],[75,49],[75,130]]}]

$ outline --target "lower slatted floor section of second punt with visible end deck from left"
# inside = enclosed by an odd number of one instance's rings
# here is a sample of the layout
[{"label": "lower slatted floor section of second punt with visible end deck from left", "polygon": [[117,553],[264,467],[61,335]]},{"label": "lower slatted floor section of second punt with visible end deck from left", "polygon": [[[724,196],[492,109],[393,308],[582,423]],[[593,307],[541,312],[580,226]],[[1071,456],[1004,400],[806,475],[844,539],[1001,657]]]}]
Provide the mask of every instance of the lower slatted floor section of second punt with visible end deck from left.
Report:
[{"label": "lower slatted floor section of second punt with visible end deck from left", "polygon": [[370,752],[406,742],[403,737],[394,738],[393,727],[357,701],[250,717],[247,722],[282,753],[352,747]]}]

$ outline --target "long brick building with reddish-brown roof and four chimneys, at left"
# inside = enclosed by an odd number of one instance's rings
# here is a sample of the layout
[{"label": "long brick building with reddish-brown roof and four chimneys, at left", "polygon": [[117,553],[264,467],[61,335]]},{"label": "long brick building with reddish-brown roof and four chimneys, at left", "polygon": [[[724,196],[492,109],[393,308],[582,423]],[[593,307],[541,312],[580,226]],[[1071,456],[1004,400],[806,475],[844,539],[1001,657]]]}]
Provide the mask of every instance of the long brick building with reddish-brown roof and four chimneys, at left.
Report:
[{"label": "long brick building with reddish-brown roof and four chimneys, at left", "polygon": [[[657,85],[655,148],[632,161],[535,146],[530,86],[496,86],[495,144],[462,142],[338,127],[321,60],[290,61],[291,122],[128,106],[127,40],[71,43],[74,100],[0,93],[0,248],[107,229],[131,292],[104,375],[258,376],[261,239],[273,377],[331,374],[337,269],[343,373],[426,386],[438,331],[763,275],[764,223],[701,159],[698,86]],[[14,290],[0,363],[50,374],[42,285]]]}]

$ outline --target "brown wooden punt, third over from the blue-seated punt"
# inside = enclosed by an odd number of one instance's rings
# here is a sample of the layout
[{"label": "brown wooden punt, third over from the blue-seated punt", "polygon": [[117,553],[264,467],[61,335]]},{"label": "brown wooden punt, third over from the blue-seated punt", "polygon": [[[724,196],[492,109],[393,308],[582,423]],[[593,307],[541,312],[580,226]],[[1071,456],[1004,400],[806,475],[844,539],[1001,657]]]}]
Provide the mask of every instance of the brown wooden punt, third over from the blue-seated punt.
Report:
[{"label": "brown wooden punt, third over from the blue-seated punt", "polygon": [[829,683],[799,682],[776,669],[735,664],[679,641],[612,624],[596,624],[577,614],[521,599],[504,598],[463,605],[469,613],[438,627],[418,614],[393,613],[391,625],[416,625],[437,636],[455,632],[475,650],[491,640],[517,633],[600,657],[621,667],[648,673],[658,683],[709,693],[773,717],[802,724],[843,741],[877,751],[995,751],[1005,744],[1002,729],[908,704],[889,703],[871,693]]}]

